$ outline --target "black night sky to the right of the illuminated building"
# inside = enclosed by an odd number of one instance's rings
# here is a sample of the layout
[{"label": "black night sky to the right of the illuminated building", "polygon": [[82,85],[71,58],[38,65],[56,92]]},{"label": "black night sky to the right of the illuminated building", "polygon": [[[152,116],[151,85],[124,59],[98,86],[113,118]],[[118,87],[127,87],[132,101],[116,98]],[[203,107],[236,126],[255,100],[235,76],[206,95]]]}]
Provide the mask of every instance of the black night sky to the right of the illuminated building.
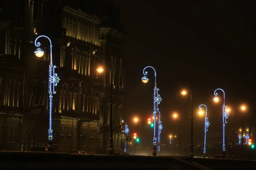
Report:
[{"label": "black night sky to the right of the illuminated building", "polygon": [[[170,133],[178,132],[177,121],[171,117],[173,111],[181,113],[181,145],[190,142],[190,97],[180,95],[185,79],[192,80],[194,86],[194,144],[203,141],[204,118],[198,116],[200,104],[208,106],[211,124],[208,142],[221,142],[222,94],[219,93],[221,102],[214,104],[216,88],[225,91],[226,105],[235,111],[235,130],[238,130],[239,105],[246,99],[254,103],[256,94],[253,5],[236,0],[116,0],[115,3],[121,8],[121,22],[129,36],[125,51],[124,119],[130,132],[135,130],[134,116],[144,123],[152,115],[153,71],[148,71],[150,83],[145,85],[140,80],[143,68],[148,65],[157,71],[157,86],[163,98],[159,105],[163,143],[168,142]],[[232,116],[227,121],[227,133],[232,133]],[[145,144],[151,146],[151,140],[145,136],[152,135],[152,130],[143,125],[139,130],[142,141],[147,140]]]}]

